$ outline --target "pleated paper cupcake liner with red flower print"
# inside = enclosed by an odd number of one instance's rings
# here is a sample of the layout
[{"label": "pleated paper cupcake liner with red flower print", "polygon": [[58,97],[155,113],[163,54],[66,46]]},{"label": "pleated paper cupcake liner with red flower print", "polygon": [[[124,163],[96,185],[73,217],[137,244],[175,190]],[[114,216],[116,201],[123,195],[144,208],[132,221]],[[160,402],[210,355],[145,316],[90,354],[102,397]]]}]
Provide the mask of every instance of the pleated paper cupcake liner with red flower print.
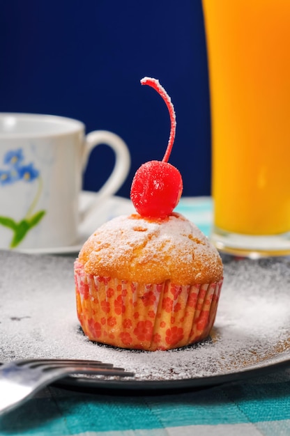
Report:
[{"label": "pleated paper cupcake liner with red flower print", "polygon": [[84,334],[121,348],[169,350],[206,338],[221,287],[222,280],[179,286],[93,276],[75,262],[77,315]]}]

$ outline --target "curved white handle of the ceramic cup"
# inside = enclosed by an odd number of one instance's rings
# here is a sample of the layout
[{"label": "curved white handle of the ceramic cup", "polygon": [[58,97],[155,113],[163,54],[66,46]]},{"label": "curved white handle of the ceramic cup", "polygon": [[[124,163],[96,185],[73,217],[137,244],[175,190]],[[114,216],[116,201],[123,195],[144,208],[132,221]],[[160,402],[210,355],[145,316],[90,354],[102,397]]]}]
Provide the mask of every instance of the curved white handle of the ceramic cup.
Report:
[{"label": "curved white handle of the ceramic cup", "polygon": [[[89,161],[91,151],[100,144],[106,144],[111,147],[115,153],[115,164],[109,178],[104,185],[98,191],[98,201],[100,199],[113,195],[121,187],[125,178],[128,176],[130,169],[130,153],[126,143],[113,132],[107,130],[94,130],[85,137],[84,154],[83,154],[83,171],[86,169],[86,165]],[[88,208],[84,210],[82,219],[91,211],[93,205],[88,205]]]}]

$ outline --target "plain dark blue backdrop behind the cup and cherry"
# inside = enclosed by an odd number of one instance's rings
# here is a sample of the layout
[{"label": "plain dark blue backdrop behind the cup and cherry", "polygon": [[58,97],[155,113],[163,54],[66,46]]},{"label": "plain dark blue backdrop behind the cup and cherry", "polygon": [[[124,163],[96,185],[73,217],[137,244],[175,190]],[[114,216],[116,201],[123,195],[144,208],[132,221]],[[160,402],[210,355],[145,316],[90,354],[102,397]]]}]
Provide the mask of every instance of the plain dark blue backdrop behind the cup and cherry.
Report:
[{"label": "plain dark blue backdrop behind the cup and cherry", "polygon": [[[0,111],[82,120],[112,130],[132,167],[118,194],[128,197],[137,168],[162,159],[169,115],[144,76],[165,87],[176,109],[169,162],[185,196],[211,192],[211,130],[201,0],[7,0],[0,15]],[[114,155],[93,151],[84,189],[96,191]]]}]

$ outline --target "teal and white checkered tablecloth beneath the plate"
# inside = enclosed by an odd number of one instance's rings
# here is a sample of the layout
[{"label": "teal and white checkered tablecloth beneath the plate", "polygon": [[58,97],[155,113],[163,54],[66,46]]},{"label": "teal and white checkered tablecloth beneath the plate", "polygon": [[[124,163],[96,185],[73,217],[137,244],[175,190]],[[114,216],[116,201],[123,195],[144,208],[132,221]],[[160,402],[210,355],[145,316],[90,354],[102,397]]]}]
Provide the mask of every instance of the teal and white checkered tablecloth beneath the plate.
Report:
[{"label": "teal and white checkered tablecloth beneath the plate", "polygon": [[[208,235],[211,208],[211,198],[185,198],[177,210]],[[190,391],[47,387],[0,417],[0,435],[290,435],[290,369]]]}]

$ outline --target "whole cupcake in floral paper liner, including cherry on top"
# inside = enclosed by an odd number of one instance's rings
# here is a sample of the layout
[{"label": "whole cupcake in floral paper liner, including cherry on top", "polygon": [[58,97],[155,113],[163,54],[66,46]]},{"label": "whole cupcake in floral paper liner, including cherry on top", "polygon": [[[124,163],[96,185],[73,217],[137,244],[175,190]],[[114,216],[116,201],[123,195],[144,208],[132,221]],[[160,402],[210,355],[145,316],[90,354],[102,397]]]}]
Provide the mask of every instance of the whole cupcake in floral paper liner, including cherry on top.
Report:
[{"label": "whole cupcake in floral paper liner, including cherry on top", "polygon": [[206,338],[222,287],[222,260],[199,228],[173,212],[183,189],[167,160],[175,114],[165,90],[144,78],[169,107],[171,135],[162,161],[142,165],[132,181],[136,214],[98,228],[75,260],[77,316],[91,341],[138,350],[169,350]]}]

